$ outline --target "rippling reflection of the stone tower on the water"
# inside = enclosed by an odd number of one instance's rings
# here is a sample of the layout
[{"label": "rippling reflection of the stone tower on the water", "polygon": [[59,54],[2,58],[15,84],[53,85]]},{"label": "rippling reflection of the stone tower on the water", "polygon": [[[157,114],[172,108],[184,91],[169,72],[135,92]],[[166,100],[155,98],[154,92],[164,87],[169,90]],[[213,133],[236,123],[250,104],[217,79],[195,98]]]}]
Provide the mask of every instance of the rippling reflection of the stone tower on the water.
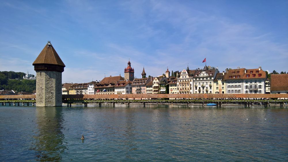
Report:
[{"label": "rippling reflection of the stone tower on the water", "polygon": [[37,161],[60,161],[66,146],[62,133],[63,113],[62,108],[48,107],[36,108],[37,135],[35,160]]}]

